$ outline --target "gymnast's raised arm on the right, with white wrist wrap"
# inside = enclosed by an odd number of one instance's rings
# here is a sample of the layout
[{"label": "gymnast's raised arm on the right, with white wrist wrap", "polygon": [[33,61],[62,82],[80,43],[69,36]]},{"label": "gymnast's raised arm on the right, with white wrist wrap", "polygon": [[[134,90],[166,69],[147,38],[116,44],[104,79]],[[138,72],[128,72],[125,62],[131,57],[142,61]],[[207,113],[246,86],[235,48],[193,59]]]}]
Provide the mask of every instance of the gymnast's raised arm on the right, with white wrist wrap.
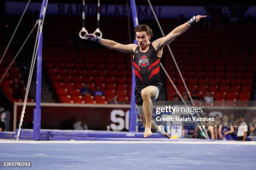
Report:
[{"label": "gymnast's raised arm on the right, with white wrist wrap", "polygon": [[172,32],[170,32],[165,37],[161,37],[161,38],[155,40],[154,42],[152,42],[152,45],[157,49],[160,49],[161,47],[168,45],[176,37],[178,37],[179,35],[182,35],[182,33],[185,32],[191,25],[199,22],[201,18],[205,18],[205,17],[207,17],[207,16],[206,15],[197,15],[196,17],[194,16],[193,18],[188,20],[187,23],[179,25],[177,28],[172,30]]}]

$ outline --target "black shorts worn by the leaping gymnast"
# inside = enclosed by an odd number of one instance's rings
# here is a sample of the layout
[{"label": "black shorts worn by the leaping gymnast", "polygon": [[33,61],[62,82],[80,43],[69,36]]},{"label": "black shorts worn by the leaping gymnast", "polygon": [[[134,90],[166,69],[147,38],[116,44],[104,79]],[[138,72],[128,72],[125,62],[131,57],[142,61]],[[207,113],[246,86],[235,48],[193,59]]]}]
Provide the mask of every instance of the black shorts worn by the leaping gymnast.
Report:
[{"label": "black shorts worn by the leaping gymnast", "polygon": [[[156,83],[156,84],[152,84],[153,86],[156,86],[159,90],[159,95],[157,97],[157,99],[155,101],[158,101],[162,95],[162,90],[163,90],[163,85],[161,82]],[[137,106],[141,106],[143,104],[143,100],[141,97],[141,90],[145,87],[148,87],[151,85],[147,85],[147,86],[138,86],[136,85],[135,89],[134,89],[134,93],[135,93],[135,102]]]}]

